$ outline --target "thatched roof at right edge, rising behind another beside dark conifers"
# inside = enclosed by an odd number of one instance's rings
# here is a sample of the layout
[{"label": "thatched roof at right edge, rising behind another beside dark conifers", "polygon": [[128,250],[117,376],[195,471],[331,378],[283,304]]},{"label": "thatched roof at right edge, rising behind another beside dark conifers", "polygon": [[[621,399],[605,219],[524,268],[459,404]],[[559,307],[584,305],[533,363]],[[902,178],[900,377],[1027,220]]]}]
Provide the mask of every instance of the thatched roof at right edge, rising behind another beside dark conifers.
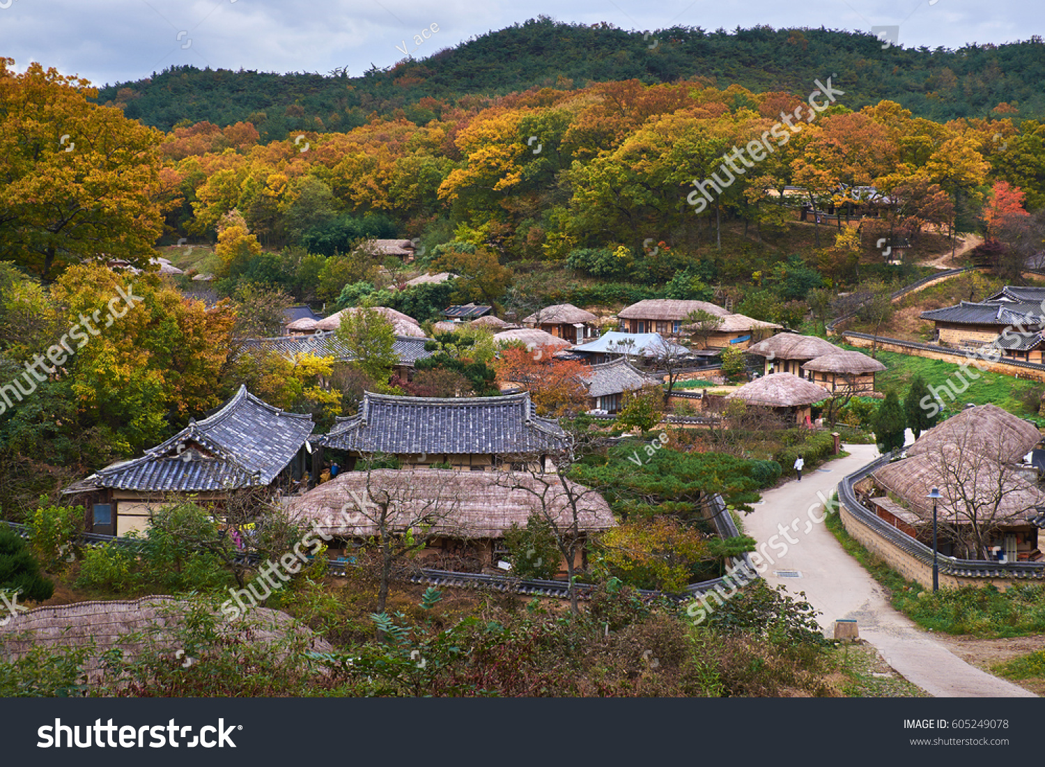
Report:
[{"label": "thatched roof at right edge, rising behind another beside dark conifers", "polygon": [[923,434],[908,456],[938,451],[945,445],[977,452],[995,461],[1014,462],[1042,439],[1038,427],[994,404],[968,408]]}]

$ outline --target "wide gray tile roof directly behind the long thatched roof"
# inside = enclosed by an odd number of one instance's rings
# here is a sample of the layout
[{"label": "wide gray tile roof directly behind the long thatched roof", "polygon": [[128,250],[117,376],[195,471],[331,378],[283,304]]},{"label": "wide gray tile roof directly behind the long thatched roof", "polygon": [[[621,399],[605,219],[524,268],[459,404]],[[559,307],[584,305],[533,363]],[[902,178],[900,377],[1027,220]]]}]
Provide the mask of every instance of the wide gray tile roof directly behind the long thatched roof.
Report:
[{"label": "wide gray tile roof directly behind the long thatched roof", "polygon": [[316,440],[358,452],[513,455],[565,446],[527,392],[505,397],[397,397],[366,392],[359,413]]}]

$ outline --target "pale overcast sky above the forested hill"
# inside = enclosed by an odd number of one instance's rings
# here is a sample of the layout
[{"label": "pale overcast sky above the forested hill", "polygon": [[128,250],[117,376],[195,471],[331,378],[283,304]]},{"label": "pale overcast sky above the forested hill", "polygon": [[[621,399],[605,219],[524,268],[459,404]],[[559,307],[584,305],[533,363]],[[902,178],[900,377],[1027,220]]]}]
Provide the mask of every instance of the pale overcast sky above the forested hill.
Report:
[{"label": "pale overcast sky above the forested hill", "polygon": [[[175,64],[355,76],[402,59],[404,41],[422,59],[539,15],[640,31],[899,25],[900,45],[930,48],[1027,40],[1045,27],[1042,0],[0,0],[0,55],[18,71],[38,61],[99,86]],[[432,24],[439,31],[418,48],[413,37]]]}]

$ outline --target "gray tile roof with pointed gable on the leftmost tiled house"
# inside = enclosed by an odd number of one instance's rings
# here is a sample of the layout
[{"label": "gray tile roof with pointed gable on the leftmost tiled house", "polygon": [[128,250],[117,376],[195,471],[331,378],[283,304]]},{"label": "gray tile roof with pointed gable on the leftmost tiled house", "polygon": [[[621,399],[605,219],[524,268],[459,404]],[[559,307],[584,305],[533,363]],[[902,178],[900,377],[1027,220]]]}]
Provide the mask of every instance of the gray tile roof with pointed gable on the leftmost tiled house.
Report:
[{"label": "gray tile roof with pointed gable on the leftmost tiled house", "polygon": [[[214,415],[190,421],[141,458],[83,484],[141,492],[209,491],[271,483],[312,432],[312,417],[284,413],[240,387]],[[184,460],[186,455],[191,460]]]}]

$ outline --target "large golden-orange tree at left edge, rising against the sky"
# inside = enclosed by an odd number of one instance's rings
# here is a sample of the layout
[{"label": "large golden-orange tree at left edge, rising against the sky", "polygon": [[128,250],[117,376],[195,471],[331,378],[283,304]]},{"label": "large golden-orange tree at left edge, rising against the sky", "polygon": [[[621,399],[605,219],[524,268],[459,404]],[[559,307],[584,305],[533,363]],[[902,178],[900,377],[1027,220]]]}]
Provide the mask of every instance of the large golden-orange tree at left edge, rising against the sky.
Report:
[{"label": "large golden-orange tree at left edge, rising against the sky", "polygon": [[86,79],[0,57],[0,260],[50,282],[69,264],[144,268],[163,231],[163,134],[88,101]]}]

